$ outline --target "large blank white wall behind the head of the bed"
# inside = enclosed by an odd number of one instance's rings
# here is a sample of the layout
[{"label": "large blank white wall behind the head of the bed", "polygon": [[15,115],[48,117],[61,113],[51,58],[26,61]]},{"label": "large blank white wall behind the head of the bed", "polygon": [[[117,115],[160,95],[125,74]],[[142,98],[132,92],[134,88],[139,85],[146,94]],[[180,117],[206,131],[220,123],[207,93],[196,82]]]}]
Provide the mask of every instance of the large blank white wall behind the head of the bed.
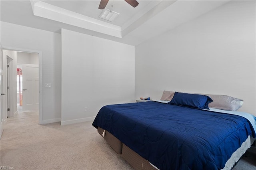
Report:
[{"label": "large blank white wall behind the head of the bed", "polygon": [[164,90],[244,99],[256,114],[255,1],[231,1],[135,47],[135,97]]}]

